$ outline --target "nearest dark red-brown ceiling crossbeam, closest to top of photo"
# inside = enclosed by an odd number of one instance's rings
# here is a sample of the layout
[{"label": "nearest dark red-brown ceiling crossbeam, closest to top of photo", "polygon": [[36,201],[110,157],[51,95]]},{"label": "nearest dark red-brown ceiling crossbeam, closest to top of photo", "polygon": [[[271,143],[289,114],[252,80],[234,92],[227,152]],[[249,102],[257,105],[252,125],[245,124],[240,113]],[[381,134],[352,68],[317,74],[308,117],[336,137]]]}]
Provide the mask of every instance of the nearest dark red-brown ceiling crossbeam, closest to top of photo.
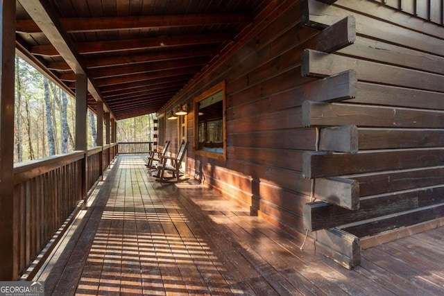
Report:
[{"label": "nearest dark red-brown ceiling crossbeam, closest to top of photo", "polygon": [[[26,0],[25,0],[26,1]],[[68,33],[113,31],[142,28],[173,28],[179,26],[205,26],[213,24],[240,24],[253,21],[247,13],[216,13],[205,15],[147,15],[122,17],[73,17],[60,20]],[[19,33],[39,33],[32,19],[17,19]]]}]

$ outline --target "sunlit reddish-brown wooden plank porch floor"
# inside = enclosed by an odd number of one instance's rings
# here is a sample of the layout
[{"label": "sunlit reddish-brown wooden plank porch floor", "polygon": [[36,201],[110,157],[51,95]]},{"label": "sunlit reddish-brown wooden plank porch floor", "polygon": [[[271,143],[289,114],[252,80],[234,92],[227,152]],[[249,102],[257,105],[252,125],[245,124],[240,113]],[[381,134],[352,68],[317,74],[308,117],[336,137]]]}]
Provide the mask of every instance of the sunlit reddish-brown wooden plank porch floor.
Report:
[{"label": "sunlit reddish-brown wooden plank porch floor", "polygon": [[444,227],[345,270],[214,191],[158,184],[140,156],[97,191],[34,278],[46,295],[444,295]]}]

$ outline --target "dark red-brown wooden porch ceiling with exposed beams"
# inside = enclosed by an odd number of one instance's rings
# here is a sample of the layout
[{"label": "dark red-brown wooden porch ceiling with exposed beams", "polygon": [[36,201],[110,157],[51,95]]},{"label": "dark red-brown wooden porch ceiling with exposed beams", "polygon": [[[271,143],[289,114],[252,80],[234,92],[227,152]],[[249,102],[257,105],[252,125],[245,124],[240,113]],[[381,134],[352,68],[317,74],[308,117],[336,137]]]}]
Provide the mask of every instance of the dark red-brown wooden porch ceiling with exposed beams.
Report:
[{"label": "dark red-brown wooden porch ceiling with exposed beams", "polygon": [[157,112],[272,0],[19,0],[19,54],[88,105],[126,119]]}]

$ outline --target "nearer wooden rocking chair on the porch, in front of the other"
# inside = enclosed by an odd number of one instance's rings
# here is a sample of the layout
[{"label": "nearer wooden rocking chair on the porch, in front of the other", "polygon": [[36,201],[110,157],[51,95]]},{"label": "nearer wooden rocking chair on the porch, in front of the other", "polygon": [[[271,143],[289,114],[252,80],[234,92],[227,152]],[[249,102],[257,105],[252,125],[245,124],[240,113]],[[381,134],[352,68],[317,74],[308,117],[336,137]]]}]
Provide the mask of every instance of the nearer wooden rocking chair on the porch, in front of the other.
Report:
[{"label": "nearer wooden rocking chair on the porch, in front of the other", "polygon": [[[185,153],[187,152],[188,148],[188,142],[185,143],[185,141],[182,141],[180,144],[180,148],[178,151],[178,154],[176,157],[169,157],[169,156],[161,156],[160,162],[157,164],[157,182],[161,183],[178,183],[178,182],[184,182],[189,180],[189,178],[183,178],[180,179],[180,164],[182,164],[182,160],[185,157]],[[170,161],[171,164],[168,164],[168,161]],[[172,177],[166,177],[164,175],[165,171],[171,172],[173,175]],[[176,178],[176,180],[172,180]]]}]

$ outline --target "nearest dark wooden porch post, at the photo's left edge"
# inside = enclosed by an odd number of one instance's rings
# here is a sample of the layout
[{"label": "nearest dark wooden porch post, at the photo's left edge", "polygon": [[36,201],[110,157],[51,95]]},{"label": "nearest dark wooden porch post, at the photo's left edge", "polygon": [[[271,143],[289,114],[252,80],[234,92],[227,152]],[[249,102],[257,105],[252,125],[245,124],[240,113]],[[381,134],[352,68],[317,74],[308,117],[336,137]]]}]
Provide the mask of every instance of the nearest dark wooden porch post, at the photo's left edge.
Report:
[{"label": "nearest dark wooden porch post, at the photo's left edge", "polygon": [[[14,67],[15,1],[0,2],[0,280],[17,275],[14,250],[17,223],[14,207]],[[18,237],[18,236],[17,236]]]}]

